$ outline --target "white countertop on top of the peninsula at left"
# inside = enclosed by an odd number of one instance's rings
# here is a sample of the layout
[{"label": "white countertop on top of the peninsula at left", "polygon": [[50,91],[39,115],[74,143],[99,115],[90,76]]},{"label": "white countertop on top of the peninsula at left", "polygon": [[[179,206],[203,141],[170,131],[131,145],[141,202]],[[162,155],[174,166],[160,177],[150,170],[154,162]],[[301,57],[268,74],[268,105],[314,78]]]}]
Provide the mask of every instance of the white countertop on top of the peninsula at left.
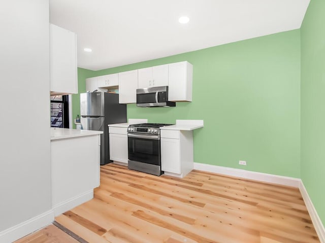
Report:
[{"label": "white countertop on top of the peninsula at left", "polygon": [[90,131],[69,128],[51,128],[51,140],[84,137],[98,135],[102,133],[102,131]]}]

